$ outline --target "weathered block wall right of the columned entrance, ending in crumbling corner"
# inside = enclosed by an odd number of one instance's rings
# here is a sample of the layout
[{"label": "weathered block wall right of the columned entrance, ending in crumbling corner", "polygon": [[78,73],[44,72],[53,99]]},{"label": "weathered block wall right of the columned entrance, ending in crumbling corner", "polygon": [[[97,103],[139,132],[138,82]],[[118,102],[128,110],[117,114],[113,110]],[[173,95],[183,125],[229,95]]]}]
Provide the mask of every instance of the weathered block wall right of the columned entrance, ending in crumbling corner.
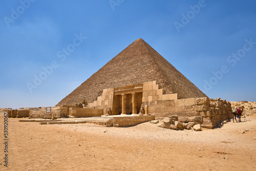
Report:
[{"label": "weathered block wall right of the columned entrance, ending in crumbling corner", "polygon": [[208,128],[232,118],[231,104],[221,99],[203,97],[157,100],[144,104],[148,105],[148,113],[158,118],[177,115],[180,122],[200,123],[202,127]]}]

